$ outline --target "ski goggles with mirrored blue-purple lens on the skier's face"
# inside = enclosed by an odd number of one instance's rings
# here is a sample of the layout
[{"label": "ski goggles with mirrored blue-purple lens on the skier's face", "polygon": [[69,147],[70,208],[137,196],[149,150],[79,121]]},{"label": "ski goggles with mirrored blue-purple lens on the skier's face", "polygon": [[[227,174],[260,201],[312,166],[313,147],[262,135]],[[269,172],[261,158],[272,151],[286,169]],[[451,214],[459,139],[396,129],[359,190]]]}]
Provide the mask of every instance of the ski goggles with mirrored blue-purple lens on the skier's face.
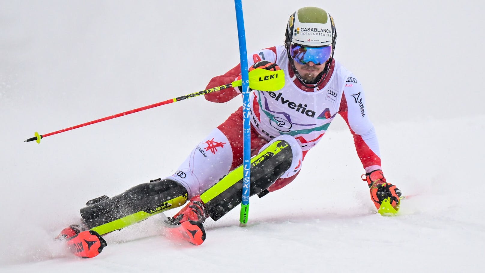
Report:
[{"label": "ski goggles with mirrored blue-purple lens on the skier's face", "polygon": [[326,47],[306,47],[297,44],[291,44],[290,56],[300,65],[313,62],[315,65],[324,64],[332,56],[332,45]]}]

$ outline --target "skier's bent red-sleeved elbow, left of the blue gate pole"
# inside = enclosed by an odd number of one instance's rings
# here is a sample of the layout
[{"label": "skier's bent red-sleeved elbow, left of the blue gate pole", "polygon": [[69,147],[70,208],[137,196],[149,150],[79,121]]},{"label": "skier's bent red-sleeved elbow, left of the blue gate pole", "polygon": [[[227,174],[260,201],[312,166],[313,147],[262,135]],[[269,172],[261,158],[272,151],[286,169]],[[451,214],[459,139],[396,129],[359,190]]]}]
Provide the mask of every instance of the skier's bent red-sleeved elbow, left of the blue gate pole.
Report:
[{"label": "skier's bent red-sleeved elbow, left of the blue gate pole", "polygon": [[[227,71],[224,75],[213,77],[207,85],[206,89],[232,83],[239,75],[241,75],[241,64],[238,64],[231,70]],[[210,102],[228,102],[239,94],[241,94],[241,92],[239,92],[239,89],[237,89],[236,87],[207,93],[204,96],[206,100]]]}]

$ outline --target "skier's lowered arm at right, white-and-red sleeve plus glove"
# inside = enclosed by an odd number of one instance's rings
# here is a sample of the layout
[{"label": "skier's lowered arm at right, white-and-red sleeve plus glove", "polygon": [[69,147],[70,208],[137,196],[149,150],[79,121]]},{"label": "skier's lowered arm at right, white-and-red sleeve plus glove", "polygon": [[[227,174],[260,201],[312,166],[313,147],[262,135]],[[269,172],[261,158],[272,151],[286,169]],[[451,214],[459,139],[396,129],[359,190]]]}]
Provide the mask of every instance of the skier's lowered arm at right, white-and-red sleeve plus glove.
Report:
[{"label": "skier's lowered arm at right, white-and-red sleeve plus glove", "polygon": [[398,207],[401,191],[386,182],[381,167],[379,142],[374,125],[367,114],[367,105],[362,85],[354,75],[347,78],[340,102],[339,114],[347,122],[356,145],[357,155],[365,169],[365,179],[371,188],[371,198],[379,209],[384,199],[390,198],[390,204]]}]

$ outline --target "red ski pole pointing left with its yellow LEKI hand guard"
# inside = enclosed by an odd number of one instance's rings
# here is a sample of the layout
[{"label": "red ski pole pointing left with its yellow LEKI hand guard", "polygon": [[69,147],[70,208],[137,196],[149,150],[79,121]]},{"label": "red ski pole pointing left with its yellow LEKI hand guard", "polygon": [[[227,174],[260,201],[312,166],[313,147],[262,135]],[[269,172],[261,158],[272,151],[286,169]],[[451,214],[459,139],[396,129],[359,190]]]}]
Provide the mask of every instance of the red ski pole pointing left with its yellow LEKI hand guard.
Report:
[{"label": "red ski pole pointing left with its yellow LEKI hand guard", "polygon": [[[283,70],[277,70],[277,71],[269,71],[269,70],[266,70],[266,69],[254,69],[254,70],[252,70],[251,71],[252,73],[250,72],[251,76],[250,76],[250,80],[249,80],[250,87],[253,88],[253,89],[262,90],[262,91],[276,91],[276,90],[281,89],[283,87],[283,85],[285,84],[285,82],[284,82],[285,77],[284,77],[284,74],[279,72],[279,71],[283,71]],[[59,134],[59,133],[63,133],[65,131],[77,129],[77,128],[80,128],[80,127],[83,127],[83,126],[91,125],[91,124],[98,123],[98,122],[101,122],[101,121],[105,121],[105,120],[108,120],[108,119],[114,119],[114,118],[126,116],[126,115],[129,115],[129,114],[132,114],[132,113],[140,112],[140,111],[150,109],[150,108],[153,108],[153,107],[157,107],[157,106],[161,106],[161,105],[164,105],[164,104],[168,104],[168,103],[172,103],[172,102],[178,102],[178,101],[182,101],[182,100],[185,100],[185,99],[197,97],[197,96],[200,96],[200,95],[203,95],[203,94],[208,94],[208,93],[211,93],[211,92],[219,91],[219,90],[230,88],[230,87],[237,87],[237,86],[241,86],[241,85],[242,85],[242,80],[234,81],[230,84],[220,85],[220,86],[212,87],[212,88],[202,90],[202,91],[199,91],[199,92],[195,92],[195,93],[192,93],[192,94],[188,94],[188,95],[180,96],[180,97],[177,97],[177,98],[169,99],[169,100],[166,100],[166,101],[163,101],[163,102],[150,104],[150,105],[147,105],[147,106],[144,106],[144,107],[136,108],[136,109],[133,109],[133,110],[129,110],[129,111],[119,113],[119,114],[116,114],[116,115],[113,115],[113,116],[105,117],[105,118],[102,118],[102,119],[92,120],[92,121],[89,121],[89,122],[85,122],[85,123],[82,123],[82,124],[79,124],[79,125],[76,125],[76,126],[68,127],[68,128],[65,128],[65,129],[62,129],[62,130],[59,130],[59,131],[48,133],[48,134],[40,135],[39,133],[35,132],[33,137],[24,140],[24,142],[29,142],[29,141],[35,140],[35,142],[40,143],[40,139],[47,137],[47,136],[56,135],[56,134]]]}]

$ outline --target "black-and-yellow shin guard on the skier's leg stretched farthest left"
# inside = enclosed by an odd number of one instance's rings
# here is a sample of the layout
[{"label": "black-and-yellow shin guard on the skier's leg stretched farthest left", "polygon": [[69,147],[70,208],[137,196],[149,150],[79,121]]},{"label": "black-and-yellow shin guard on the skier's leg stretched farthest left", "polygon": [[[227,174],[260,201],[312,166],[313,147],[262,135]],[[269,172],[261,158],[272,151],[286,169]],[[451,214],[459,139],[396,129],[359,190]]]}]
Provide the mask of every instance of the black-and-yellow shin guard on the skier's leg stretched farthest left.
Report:
[{"label": "black-and-yellow shin guard on the skier's leg stretched farthest left", "polygon": [[103,235],[184,205],[187,196],[187,190],[177,182],[157,179],[112,198],[93,199],[81,208],[81,217],[91,230]]}]

